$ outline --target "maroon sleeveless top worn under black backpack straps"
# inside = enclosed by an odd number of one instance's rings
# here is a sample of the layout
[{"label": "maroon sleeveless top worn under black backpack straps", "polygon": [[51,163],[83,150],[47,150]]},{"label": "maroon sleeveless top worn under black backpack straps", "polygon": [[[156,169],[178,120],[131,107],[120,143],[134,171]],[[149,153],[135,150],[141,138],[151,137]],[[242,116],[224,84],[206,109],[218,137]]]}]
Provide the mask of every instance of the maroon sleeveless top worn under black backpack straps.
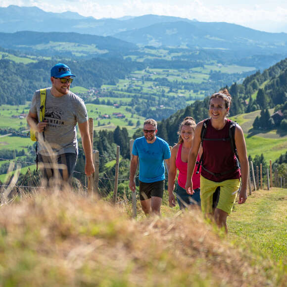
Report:
[{"label": "maroon sleeveless top worn under black backpack straps", "polygon": [[[229,138],[229,127],[231,120],[227,120],[221,130],[212,127],[211,121],[207,123],[207,129],[204,139],[227,139]],[[230,140],[227,141],[202,141],[203,161],[202,166],[215,174],[225,173],[219,176],[212,175],[204,168],[201,169],[201,175],[214,182],[222,182],[230,179],[239,179],[240,169],[237,166],[236,156],[231,148]],[[230,172],[229,172],[230,171]]]}]

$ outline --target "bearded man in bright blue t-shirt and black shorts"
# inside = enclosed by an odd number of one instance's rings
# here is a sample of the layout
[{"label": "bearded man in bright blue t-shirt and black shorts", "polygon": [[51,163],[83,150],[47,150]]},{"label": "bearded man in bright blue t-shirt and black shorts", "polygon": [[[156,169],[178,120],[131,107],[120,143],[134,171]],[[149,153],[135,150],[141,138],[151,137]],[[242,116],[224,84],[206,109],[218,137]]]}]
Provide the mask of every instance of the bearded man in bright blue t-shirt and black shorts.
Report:
[{"label": "bearded man in bright blue t-shirt and black shorts", "polygon": [[170,148],[167,142],[156,137],[157,123],[153,119],[144,122],[144,137],[135,140],[130,166],[130,189],[136,191],[135,174],[140,161],[140,200],[144,213],[160,214],[164,191],[165,168],[169,168]]}]

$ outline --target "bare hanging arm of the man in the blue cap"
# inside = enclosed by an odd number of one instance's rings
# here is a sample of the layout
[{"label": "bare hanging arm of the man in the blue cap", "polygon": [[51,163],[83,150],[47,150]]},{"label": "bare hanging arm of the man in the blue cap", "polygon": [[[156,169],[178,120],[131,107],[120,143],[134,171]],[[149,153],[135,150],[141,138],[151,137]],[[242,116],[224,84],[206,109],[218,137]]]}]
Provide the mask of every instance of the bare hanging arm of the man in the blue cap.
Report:
[{"label": "bare hanging arm of the man in the blue cap", "polygon": [[81,133],[82,144],[86,156],[86,166],[85,166],[85,173],[87,176],[92,175],[95,172],[93,157],[92,157],[92,144],[91,138],[89,134],[89,124],[88,121],[79,124],[79,130]]}]

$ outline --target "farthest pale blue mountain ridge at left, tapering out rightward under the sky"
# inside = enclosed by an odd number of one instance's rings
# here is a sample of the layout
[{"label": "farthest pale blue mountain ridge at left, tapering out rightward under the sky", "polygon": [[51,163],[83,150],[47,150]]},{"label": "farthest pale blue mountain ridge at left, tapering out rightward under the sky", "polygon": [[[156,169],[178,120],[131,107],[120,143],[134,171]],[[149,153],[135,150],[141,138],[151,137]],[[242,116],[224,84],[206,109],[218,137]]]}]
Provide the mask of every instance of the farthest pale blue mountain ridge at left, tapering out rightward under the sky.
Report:
[{"label": "farthest pale blue mountain ridge at left, tapering out rightward under the sky", "polygon": [[0,32],[76,32],[99,36],[112,36],[116,33],[140,29],[149,25],[192,20],[171,16],[144,15],[120,19],[95,19],[75,12],[52,13],[38,7],[10,5],[0,7]]}]

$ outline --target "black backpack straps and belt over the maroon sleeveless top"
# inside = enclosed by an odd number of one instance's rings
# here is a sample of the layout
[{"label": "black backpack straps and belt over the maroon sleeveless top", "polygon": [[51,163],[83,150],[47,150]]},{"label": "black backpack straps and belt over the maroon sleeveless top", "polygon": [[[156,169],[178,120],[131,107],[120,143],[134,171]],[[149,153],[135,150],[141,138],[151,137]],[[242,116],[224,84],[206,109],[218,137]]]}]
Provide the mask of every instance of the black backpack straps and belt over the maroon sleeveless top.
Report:
[{"label": "black backpack straps and belt over the maroon sleeveless top", "polygon": [[230,141],[231,150],[234,152],[234,154],[236,156],[236,167],[234,169],[232,169],[232,170],[225,171],[225,172],[222,172],[222,173],[213,173],[213,172],[207,170],[206,168],[204,168],[204,166],[202,165],[202,161],[203,161],[203,153],[202,153],[199,161],[196,162],[198,164],[196,173],[197,174],[199,173],[200,165],[201,165],[202,169],[204,169],[205,171],[207,171],[208,173],[210,173],[210,174],[212,174],[212,175],[214,175],[216,177],[219,177],[219,176],[222,176],[222,175],[234,172],[235,170],[240,168],[237,148],[236,148],[236,144],[235,144],[235,129],[236,129],[237,123],[234,122],[234,121],[231,121],[230,127],[229,127],[229,137],[228,138],[224,138],[224,139],[205,139],[204,137],[205,137],[206,129],[207,129],[207,126],[208,126],[209,123],[210,123],[210,118],[204,120],[204,122],[203,122],[203,125],[202,125],[202,128],[201,128],[201,133],[200,133],[201,145],[202,145],[202,141]]}]

